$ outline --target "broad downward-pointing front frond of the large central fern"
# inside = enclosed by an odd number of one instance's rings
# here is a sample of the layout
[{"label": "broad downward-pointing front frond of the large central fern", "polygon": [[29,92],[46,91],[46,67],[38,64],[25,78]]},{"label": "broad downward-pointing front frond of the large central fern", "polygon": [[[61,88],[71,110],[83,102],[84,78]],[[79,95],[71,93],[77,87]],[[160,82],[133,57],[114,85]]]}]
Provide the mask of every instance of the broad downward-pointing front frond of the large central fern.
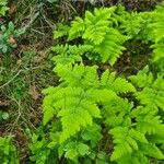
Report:
[{"label": "broad downward-pointing front frond of the large central fern", "polygon": [[[57,87],[52,89],[54,94],[47,96],[52,97],[48,99],[49,106],[54,108],[52,114],[61,118],[62,132],[60,136],[60,142],[66,141],[71,136],[74,136],[82,128],[92,126],[93,118],[99,118],[101,113],[95,102],[91,98],[91,91],[84,92],[80,87]],[[48,103],[45,103],[47,105]],[[44,106],[45,113],[49,114],[49,106]],[[50,109],[51,110],[51,109]],[[51,119],[51,115],[47,119],[45,115],[45,124]]]}]

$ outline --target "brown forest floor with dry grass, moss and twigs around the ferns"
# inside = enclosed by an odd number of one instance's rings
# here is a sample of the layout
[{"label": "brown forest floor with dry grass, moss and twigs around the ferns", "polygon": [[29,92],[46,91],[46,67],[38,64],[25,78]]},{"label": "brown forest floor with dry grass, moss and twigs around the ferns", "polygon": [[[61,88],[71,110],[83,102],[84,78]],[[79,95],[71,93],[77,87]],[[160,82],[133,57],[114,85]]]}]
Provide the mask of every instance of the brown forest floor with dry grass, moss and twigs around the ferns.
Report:
[{"label": "brown forest floor with dry grass, moss and twigs around the ferns", "polygon": [[[69,24],[75,15],[83,15],[85,10],[92,10],[95,5],[109,7],[118,2],[109,0],[93,5],[82,1],[73,2],[73,0],[60,0],[56,3],[39,0],[10,0],[9,12],[0,23],[8,24],[12,21],[15,28],[26,27],[26,32],[14,38],[17,44],[15,49],[5,55],[0,51],[0,113],[4,112],[9,115],[8,119],[0,119],[0,136],[14,137],[21,150],[22,163],[28,157],[28,133],[35,131],[42,124],[42,91],[49,85],[55,85],[58,80],[51,71],[54,65],[50,60],[54,56],[50,47],[57,44],[52,39],[52,32],[57,24]],[[120,2],[130,11],[149,11],[157,3],[156,0]],[[128,46],[129,50],[125,51],[124,57],[114,66],[118,73],[137,72],[149,60],[151,49],[147,45],[130,43]]]}]

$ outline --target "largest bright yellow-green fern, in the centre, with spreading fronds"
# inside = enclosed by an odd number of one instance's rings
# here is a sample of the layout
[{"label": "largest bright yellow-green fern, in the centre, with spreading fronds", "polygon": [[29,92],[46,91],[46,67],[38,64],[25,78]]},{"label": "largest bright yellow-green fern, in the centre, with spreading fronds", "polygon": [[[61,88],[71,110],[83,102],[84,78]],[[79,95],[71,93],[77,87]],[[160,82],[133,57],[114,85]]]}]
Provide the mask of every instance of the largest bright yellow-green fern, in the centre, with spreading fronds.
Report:
[{"label": "largest bright yellow-green fern, in the centre, with spreading fronds", "polygon": [[[84,131],[82,139],[91,140],[91,145],[95,147],[101,134],[98,132],[97,137],[94,138],[96,132],[92,134],[92,131],[87,130],[93,125],[96,128],[95,118],[102,118],[98,105],[108,105],[108,102],[118,98],[117,94],[119,93],[136,91],[132,84],[122,78],[116,78],[115,73],[105,71],[98,78],[96,69],[95,66],[84,67],[82,63],[74,66],[57,65],[55,68],[61,83],[59,86],[48,87],[44,91],[46,95],[44,99],[44,125],[49,122],[54,116],[56,119],[60,119],[62,130],[59,144],[68,142],[68,139]],[[63,148],[61,150],[63,151]],[[74,160],[81,156],[78,154]],[[67,155],[67,157],[69,156]]]}]

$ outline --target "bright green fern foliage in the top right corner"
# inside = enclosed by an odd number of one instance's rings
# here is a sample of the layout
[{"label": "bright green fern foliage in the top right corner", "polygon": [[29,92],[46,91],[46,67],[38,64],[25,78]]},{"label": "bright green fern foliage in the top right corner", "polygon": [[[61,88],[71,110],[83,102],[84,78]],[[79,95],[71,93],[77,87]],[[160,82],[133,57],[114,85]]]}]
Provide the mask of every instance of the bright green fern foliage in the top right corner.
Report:
[{"label": "bright green fern foliage in the top right corner", "polygon": [[130,38],[139,39],[151,44],[153,49],[152,61],[161,69],[164,69],[164,7],[163,3],[151,12],[121,12],[124,14],[120,30],[127,33]]}]

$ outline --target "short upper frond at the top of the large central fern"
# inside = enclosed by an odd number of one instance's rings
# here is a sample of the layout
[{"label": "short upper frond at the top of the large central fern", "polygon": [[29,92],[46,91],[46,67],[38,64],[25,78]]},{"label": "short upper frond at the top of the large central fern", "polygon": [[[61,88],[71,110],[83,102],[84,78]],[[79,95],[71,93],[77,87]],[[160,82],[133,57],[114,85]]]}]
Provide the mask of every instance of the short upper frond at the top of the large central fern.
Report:
[{"label": "short upper frond at the top of the large central fern", "polygon": [[96,66],[84,67],[82,63],[74,67],[58,65],[55,72],[60,77],[60,81],[65,81],[62,84],[87,89],[98,85],[96,69]]}]

